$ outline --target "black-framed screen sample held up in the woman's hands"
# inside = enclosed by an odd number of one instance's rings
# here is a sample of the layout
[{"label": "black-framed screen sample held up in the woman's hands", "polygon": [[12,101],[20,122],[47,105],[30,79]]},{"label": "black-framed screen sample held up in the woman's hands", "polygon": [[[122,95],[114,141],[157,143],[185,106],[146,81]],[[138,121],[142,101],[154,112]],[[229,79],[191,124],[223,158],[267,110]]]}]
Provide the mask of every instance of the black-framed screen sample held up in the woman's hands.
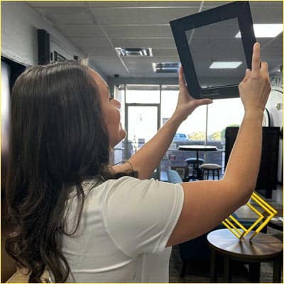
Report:
[{"label": "black-framed screen sample held up in the woman's hands", "polygon": [[[170,21],[187,89],[196,99],[239,97],[238,84],[256,37],[249,1],[235,1]],[[236,37],[239,33],[241,37]],[[234,68],[210,69],[212,62],[241,62]],[[231,67],[231,64],[230,66]]]}]

